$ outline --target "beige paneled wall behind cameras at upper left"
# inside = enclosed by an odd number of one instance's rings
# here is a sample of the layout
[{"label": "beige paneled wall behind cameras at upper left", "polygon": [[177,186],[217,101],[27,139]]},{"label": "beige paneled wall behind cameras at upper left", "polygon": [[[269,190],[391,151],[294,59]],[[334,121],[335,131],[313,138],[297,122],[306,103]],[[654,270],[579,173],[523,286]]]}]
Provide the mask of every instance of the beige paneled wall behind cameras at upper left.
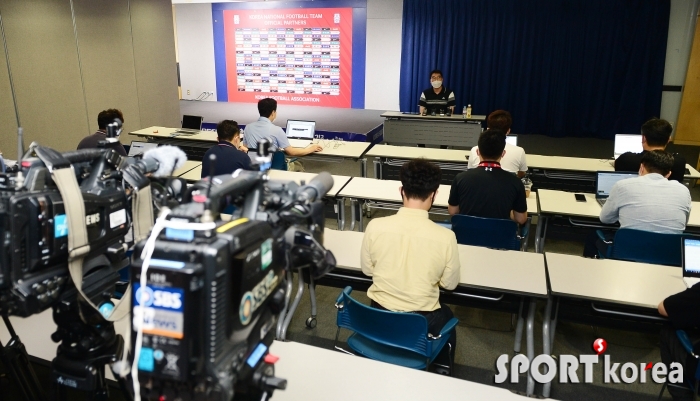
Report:
[{"label": "beige paneled wall behind cameras at upper left", "polygon": [[[75,31],[71,0],[0,0],[25,145],[75,149],[112,107],[124,112],[125,132],[179,126],[170,0],[73,0],[73,7]],[[1,52],[0,60],[0,150],[14,159]]]}]

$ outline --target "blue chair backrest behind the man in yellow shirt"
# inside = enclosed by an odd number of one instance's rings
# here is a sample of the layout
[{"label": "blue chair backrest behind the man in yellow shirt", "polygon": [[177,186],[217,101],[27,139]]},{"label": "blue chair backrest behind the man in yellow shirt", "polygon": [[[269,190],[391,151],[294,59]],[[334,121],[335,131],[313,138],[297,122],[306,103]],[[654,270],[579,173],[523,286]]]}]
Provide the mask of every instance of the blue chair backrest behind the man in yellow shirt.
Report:
[{"label": "blue chair backrest behind the man in yellow shirt", "polygon": [[350,296],[352,287],[345,287],[338,296],[338,327],[354,331],[380,344],[413,351],[429,357],[428,320],[417,313],[391,312],[372,308]]}]

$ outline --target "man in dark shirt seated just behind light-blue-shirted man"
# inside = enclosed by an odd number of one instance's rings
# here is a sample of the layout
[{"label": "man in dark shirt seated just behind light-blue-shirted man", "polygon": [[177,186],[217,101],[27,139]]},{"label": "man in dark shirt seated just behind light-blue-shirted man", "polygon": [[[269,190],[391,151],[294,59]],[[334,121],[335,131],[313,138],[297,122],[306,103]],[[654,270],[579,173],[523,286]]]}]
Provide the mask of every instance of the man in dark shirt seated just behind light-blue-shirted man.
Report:
[{"label": "man in dark shirt seated just behind light-blue-shirted man", "polygon": [[214,175],[232,174],[238,169],[252,170],[250,158],[239,150],[241,148],[241,129],[238,128],[238,123],[224,120],[216,126],[216,133],[219,143],[204,154],[202,178],[211,175],[209,160],[211,155],[216,156]]}]

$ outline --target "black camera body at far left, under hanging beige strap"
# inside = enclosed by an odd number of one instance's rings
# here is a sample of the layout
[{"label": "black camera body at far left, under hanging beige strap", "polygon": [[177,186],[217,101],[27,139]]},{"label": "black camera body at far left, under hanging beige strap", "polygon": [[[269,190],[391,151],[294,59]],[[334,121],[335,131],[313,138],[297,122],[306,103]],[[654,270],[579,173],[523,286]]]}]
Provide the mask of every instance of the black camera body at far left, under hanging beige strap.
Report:
[{"label": "black camera body at far left, under hanging beige strap", "polygon": [[[129,230],[127,198],[112,150],[68,152],[85,205],[92,261],[106,255],[113,268],[128,260],[123,246]],[[64,201],[49,169],[38,158],[22,161],[24,184],[16,175],[0,180],[0,312],[17,316],[39,313],[59,299],[70,281],[68,221]],[[98,259],[99,258],[99,259]],[[99,263],[98,263],[99,264]],[[85,273],[85,272],[84,272]]]}]

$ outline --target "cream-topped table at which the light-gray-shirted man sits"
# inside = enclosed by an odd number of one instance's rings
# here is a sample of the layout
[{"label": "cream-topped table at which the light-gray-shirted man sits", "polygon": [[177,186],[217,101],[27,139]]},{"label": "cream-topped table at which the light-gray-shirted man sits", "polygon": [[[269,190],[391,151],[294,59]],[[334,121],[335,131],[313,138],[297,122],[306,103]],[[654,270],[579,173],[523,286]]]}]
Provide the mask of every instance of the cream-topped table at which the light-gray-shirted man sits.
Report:
[{"label": "cream-topped table at which the light-gray-shirted man sits", "polygon": [[[562,217],[573,227],[583,228],[608,228],[619,227],[614,224],[600,222],[602,206],[595,198],[595,194],[585,193],[585,202],[576,200],[573,192],[540,189],[537,191],[539,206],[537,230],[535,233],[535,251],[543,252],[547,227],[555,217]],[[686,231],[700,232],[700,202],[692,202],[690,217],[686,224]]]}]

